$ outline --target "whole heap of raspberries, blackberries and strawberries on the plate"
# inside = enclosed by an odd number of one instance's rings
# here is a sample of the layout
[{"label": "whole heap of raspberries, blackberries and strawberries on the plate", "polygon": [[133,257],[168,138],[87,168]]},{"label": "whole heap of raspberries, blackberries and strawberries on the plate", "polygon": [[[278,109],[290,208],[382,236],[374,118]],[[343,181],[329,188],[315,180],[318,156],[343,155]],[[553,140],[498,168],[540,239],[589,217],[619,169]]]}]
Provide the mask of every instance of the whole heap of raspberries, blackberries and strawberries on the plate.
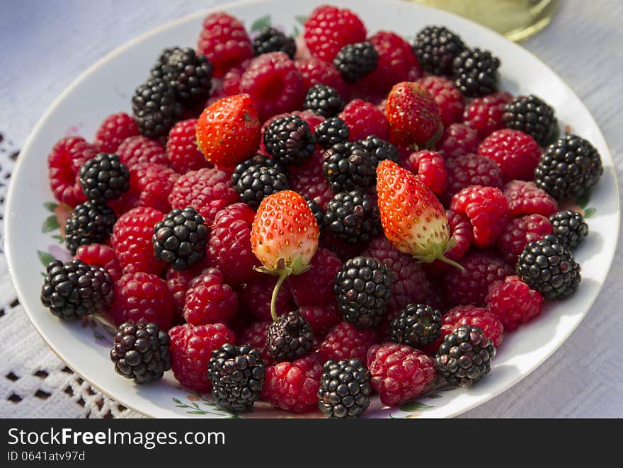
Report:
[{"label": "whole heap of raspberries, blackberries and strawberries on the plate", "polygon": [[350,418],[477,384],[505,333],[577,290],[588,224],[560,207],[602,162],[542,98],[500,91],[491,51],[415,38],[326,5],[301,41],[207,16],[131,115],[52,148],[75,257],[42,303],[114,321],[120,375],[172,370],[234,413]]}]

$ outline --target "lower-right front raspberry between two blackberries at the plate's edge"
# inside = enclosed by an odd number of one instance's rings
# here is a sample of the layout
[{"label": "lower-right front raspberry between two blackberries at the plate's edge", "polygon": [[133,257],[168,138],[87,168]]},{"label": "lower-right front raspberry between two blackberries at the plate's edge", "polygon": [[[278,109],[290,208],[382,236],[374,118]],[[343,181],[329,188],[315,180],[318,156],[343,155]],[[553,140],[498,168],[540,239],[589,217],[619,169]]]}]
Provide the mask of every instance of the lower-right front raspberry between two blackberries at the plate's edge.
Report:
[{"label": "lower-right front raspberry between two blackberries at the plate's edge", "polygon": [[372,346],[367,352],[367,367],[372,388],[387,406],[400,406],[428,392],[435,382],[433,359],[411,346]]}]

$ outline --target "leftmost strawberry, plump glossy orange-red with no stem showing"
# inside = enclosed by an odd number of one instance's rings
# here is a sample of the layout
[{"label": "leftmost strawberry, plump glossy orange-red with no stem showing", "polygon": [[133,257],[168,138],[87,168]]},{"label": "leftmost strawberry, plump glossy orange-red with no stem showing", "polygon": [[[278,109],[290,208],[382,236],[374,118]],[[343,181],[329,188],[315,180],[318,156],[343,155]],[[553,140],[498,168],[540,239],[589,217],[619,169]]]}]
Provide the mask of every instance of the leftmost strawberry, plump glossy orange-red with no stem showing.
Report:
[{"label": "leftmost strawberry, plump glossy orange-red with no stem showing", "polygon": [[258,111],[248,94],[236,94],[210,104],[197,122],[197,145],[220,169],[256,154],[260,144]]}]

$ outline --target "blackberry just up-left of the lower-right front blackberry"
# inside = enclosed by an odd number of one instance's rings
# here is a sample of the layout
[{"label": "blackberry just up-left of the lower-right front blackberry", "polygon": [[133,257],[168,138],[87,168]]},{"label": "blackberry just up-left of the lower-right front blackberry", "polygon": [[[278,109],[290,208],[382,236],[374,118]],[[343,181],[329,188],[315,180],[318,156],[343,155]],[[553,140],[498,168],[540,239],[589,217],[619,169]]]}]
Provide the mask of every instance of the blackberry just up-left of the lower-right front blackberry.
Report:
[{"label": "blackberry just up-left of the lower-right front blackberry", "polygon": [[389,322],[389,336],[394,343],[422,348],[441,336],[441,312],[426,304],[407,304]]}]

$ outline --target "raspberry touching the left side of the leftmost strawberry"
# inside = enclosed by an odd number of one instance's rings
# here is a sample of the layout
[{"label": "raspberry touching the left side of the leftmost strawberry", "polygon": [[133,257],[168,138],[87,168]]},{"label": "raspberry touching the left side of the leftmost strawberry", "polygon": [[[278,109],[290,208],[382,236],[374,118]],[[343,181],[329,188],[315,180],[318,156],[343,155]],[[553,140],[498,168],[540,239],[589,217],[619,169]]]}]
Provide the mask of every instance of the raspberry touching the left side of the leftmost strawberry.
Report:
[{"label": "raspberry touching the left side of the leftmost strawberry", "polygon": [[171,167],[178,173],[183,174],[211,166],[197,148],[196,130],[197,119],[188,119],[177,122],[168,132],[166,156],[171,161]]}]

